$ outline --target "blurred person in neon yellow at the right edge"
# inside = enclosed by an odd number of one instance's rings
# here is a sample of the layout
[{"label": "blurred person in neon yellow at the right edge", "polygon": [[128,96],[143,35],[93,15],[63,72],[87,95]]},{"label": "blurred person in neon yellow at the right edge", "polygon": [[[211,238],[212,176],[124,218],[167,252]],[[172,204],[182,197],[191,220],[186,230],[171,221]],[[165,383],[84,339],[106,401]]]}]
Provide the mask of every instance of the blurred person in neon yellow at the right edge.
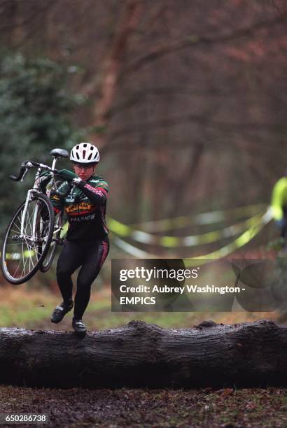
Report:
[{"label": "blurred person in neon yellow at the right edge", "polygon": [[287,169],[285,176],[273,187],[271,206],[274,220],[281,229],[281,237],[287,238]]}]

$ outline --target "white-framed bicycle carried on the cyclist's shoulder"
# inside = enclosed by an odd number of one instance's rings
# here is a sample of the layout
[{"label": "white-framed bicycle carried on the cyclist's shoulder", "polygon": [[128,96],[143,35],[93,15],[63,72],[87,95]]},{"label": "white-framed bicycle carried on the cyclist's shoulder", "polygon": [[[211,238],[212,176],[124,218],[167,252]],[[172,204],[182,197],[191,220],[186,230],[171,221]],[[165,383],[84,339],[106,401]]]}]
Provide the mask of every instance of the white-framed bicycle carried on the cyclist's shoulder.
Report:
[{"label": "white-framed bicycle carried on the cyclist's shoulder", "polygon": [[50,196],[55,192],[65,197],[71,192],[71,183],[64,194],[59,192],[56,181],[59,171],[55,169],[57,159],[69,154],[63,149],[53,149],[50,155],[54,158],[52,166],[25,161],[18,176],[10,176],[11,180],[23,181],[29,169],[37,168],[34,185],[13,214],[3,238],[1,269],[11,284],[25,283],[38,269],[48,271],[57,245],[62,243],[63,213],[54,213]]}]

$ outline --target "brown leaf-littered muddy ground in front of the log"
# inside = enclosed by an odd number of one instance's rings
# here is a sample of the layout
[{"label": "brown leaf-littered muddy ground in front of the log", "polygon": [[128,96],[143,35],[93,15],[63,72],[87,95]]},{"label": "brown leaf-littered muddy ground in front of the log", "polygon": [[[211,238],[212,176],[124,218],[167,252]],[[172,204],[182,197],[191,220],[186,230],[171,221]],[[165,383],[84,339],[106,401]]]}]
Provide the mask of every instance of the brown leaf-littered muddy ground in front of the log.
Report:
[{"label": "brown leaf-littered muddy ground in front of the log", "polygon": [[279,388],[35,390],[2,385],[0,402],[1,413],[45,413],[50,427],[287,426],[287,390]]}]

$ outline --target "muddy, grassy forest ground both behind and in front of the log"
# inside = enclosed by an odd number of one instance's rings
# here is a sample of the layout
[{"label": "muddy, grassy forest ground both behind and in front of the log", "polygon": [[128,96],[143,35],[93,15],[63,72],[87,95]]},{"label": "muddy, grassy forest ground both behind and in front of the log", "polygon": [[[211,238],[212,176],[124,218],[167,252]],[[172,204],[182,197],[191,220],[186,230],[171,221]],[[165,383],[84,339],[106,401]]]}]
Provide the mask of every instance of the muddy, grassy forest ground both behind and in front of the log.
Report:
[{"label": "muddy, grassy forest ground both behind and in front of the log", "polygon": [[[232,324],[262,318],[277,320],[279,315],[111,313],[110,300],[109,288],[92,294],[84,317],[89,330],[119,327],[131,320],[162,327],[192,327],[202,320]],[[71,313],[60,324],[50,323],[50,313],[59,301],[58,294],[47,290],[30,290],[26,285],[3,287],[0,326],[69,331]],[[50,427],[287,427],[287,389],[237,389],[235,385],[221,390],[55,390],[0,385],[0,413],[4,412],[45,413]]]}]

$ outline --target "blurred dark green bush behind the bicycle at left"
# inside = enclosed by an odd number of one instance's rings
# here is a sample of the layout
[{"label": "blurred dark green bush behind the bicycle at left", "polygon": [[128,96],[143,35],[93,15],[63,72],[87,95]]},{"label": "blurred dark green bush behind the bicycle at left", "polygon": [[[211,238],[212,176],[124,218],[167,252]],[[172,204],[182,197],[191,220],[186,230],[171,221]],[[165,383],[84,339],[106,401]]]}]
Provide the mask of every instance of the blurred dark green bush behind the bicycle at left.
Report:
[{"label": "blurred dark green bush behind the bicycle at left", "polygon": [[[75,141],[83,138],[83,133],[72,126],[71,117],[83,97],[71,94],[66,84],[69,73],[76,71],[76,67],[66,69],[50,59],[25,59],[20,53],[1,56],[2,231],[27,187],[12,183],[9,174],[17,173],[25,159],[49,162],[52,148],[71,148]],[[16,186],[21,186],[21,190]]]}]

